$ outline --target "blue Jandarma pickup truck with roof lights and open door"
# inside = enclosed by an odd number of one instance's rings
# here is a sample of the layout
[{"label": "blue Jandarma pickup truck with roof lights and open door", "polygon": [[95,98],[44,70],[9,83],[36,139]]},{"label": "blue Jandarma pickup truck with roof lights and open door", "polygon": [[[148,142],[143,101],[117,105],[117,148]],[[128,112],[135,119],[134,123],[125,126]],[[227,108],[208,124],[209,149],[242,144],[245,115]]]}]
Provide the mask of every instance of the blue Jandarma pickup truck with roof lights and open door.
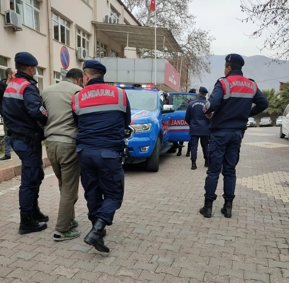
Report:
[{"label": "blue Jandarma pickup truck with roof lights and open door", "polygon": [[197,95],[172,92],[167,105],[168,93],[154,85],[117,86],[125,89],[131,106],[131,124],[125,130],[129,140],[125,163],[146,162],[147,171],[157,172],[160,155],[168,152],[173,142],[190,140],[185,113]]}]

